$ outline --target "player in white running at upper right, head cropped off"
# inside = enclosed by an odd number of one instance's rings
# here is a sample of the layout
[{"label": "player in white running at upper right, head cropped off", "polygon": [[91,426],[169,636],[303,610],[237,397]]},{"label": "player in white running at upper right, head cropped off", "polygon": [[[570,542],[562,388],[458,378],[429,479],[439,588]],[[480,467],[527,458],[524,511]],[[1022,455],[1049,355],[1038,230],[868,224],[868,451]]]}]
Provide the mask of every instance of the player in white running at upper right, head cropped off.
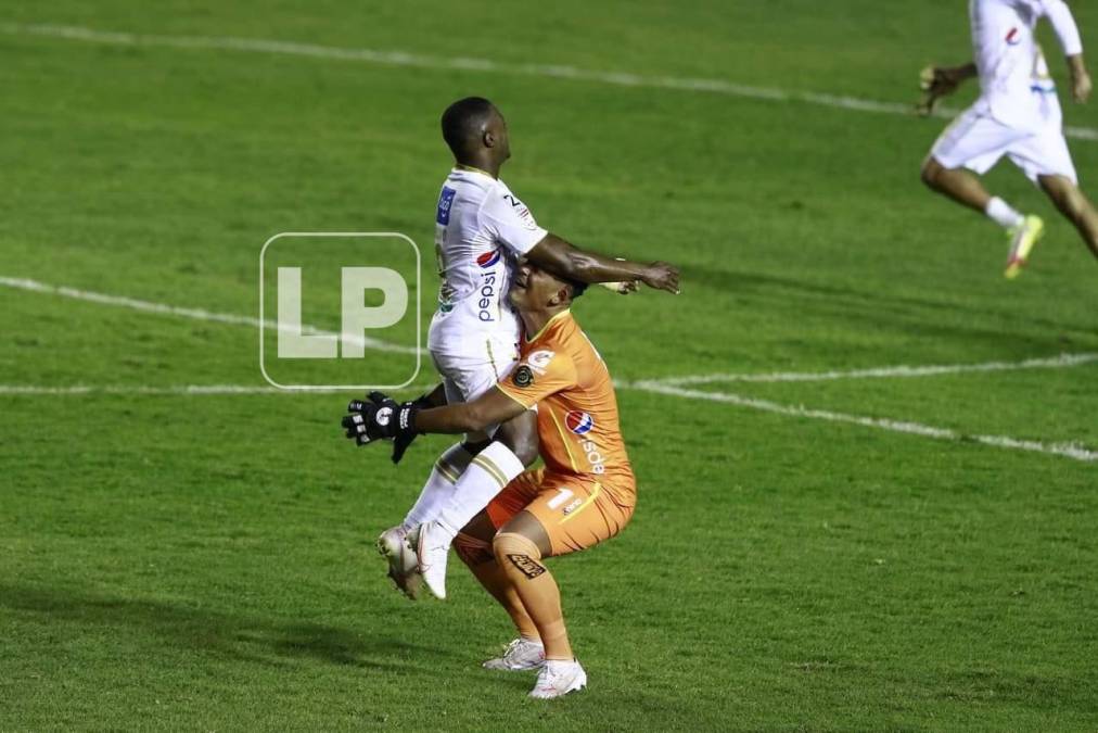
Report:
[{"label": "player in white running at upper right, head cropped off", "polygon": [[1005,275],[1013,278],[1044,233],[1044,222],[990,196],[968,173],[985,174],[1006,155],[1044,190],[1098,257],[1098,213],[1078,189],[1056,86],[1033,36],[1037,22],[1046,18],[1067,57],[1072,96],[1085,102],[1090,75],[1072,11],[1063,0],[970,0],[968,16],[975,62],[925,70],[923,110],[974,76],[979,77],[979,99],[934,143],[922,165],[923,182],[1008,231]]}]

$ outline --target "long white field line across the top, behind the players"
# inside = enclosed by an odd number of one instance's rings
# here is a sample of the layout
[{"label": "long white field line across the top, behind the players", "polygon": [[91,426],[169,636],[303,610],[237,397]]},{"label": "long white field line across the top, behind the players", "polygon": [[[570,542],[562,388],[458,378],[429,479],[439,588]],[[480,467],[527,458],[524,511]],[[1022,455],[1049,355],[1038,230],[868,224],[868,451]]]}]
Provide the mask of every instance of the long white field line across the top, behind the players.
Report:
[{"label": "long white field line across the top, behind the players", "polygon": [[[609,84],[619,87],[698,91],[725,95],[728,97],[742,97],[747,99],[762,99],[778,102],[806,102],[809,104],[855,110],[860,112],[900,114],[905,116],[911,116],[915,114],[914,103],[906,104],[901,102],[883,102],[872,99],[859,99],[856,97],[829,95],[817,91],[789,91],[772,87],[753,87],[724,79],[651,76],[629,71],[600,71],[576,68],[574,66],[551,64],[507,64],[486,58],[469,58],[466,56],[427,56],[422,54],[411,54],[402,51],[346,48],[312,43],[295,43],[292,41],[274,41],[269,38],[120,33],[115,31],[97,31],[94,29],[74,25],[0,23],[0,32],[8,33],[10,35],[37,35],[52,38],[83,41],[88,43],[103,43],[115,46],[161,46],[173,48],[237,51],[366,62],[369,64],[381,64],[388,66],[410,66],[416,68],[446,70],[458,69],[491,74],[536,76],[553,79],[574,79],[579,81]],[[957,110],[955,109],[941,108],[934,110],[934,116],[943,119],[950,119],[956,114]],[[1098,141],[1098,130],[1094,127],[1065,127],[1064,132],[1068,137]]]}]

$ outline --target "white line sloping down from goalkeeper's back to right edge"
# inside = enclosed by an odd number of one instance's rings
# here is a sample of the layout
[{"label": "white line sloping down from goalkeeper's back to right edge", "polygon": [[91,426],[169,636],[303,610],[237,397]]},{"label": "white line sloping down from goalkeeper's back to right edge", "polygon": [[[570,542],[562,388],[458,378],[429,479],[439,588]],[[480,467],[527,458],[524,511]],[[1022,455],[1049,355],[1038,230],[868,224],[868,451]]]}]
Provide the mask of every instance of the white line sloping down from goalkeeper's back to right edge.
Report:
[{"label": "white line sloping down from goalkeeper's back to right edge", "polygon": [[965,442],[971,441],[983,445],[991,445],[999,448],[1012,448],[1015,451],[1031,451],[1033,453],[1046,453],[1075,460],[1094,462],[1098,460],[1098,452],[1090,451],[1074,443],[1041,443],[1038,441],[1023,441],[1007,435],[968,435],[959,433],[946,427],[934,427],[917,422],[906,422],[888,420],[886,418],[866,418],[863,415],[852,415],[842,412],[831,412],[830,410],[813,410],[803,406],[778,404],[769,400],[759,400],[741,395],[730,395],[727,392],[703,392],[694,389],[683,389],[674,385],[666,385],[658,381],[636,381],[623,385],[634,389],[640,389],[659,395],[670,395],[692,400],[706,400],[709,402],[724,402],[763,412],[788,415],[792,418],[811,418],[814,420],[826,420],[828,422],[842,422],[863,427],[876,427],[894,433],[906,433],[908,435],[921,435],[939,441]]}]

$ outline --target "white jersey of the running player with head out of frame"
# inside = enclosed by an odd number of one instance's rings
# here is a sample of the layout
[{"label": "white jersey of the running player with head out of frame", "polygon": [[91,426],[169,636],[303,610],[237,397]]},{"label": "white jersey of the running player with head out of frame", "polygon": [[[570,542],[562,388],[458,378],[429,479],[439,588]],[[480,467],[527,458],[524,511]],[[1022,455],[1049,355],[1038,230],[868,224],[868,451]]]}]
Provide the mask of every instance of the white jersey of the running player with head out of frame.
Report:
[{"label": "white jersey of the running player with head out of frame", "polygon": [[970,0],[972,43],[979,71],[975,109],[1018,129],[1060,125],[1056,86],[1033,31],[1047,18],[1065,56],[1083,53],[1079,32],[1063,0]]}]

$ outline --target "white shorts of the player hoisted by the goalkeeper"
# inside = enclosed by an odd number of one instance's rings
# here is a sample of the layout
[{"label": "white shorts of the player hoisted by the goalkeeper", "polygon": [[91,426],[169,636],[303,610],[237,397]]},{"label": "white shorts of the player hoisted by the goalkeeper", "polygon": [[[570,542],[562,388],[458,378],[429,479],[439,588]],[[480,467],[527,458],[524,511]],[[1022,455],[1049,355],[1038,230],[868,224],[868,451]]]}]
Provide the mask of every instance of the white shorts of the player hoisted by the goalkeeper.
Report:
[{"label": "white shorts of the player hoisted by the goalkeeper", "polygon": [[[508,330],[503,333],[470,333],[460,348],[430,349],[435,368],[442,377],[446,401],[469,402],[490,390],[514,368],[518,362],[518,345]],[[478,442],[491,437],[498,425],[490,425],[483,434],[466,435],[467,441]]]}]

